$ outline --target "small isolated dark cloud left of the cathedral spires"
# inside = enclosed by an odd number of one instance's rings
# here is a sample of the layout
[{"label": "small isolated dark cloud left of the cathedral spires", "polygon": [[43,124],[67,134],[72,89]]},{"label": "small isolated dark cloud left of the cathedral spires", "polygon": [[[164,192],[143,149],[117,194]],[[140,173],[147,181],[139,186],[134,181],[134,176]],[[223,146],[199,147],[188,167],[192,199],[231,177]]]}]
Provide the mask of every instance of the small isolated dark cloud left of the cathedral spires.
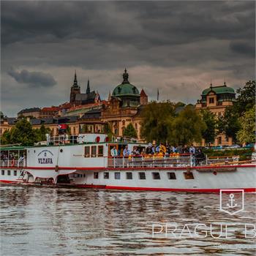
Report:
[{"label": "small isolated dark cloud left of the cathedral spires", "polygon": [[31,87],[50,87],[56,84],[56,80],[52,75],[43,72],[29,72],[25,69],[17,72],[14,69],[10,69],[8,74],[18,83],[25,83]]}]

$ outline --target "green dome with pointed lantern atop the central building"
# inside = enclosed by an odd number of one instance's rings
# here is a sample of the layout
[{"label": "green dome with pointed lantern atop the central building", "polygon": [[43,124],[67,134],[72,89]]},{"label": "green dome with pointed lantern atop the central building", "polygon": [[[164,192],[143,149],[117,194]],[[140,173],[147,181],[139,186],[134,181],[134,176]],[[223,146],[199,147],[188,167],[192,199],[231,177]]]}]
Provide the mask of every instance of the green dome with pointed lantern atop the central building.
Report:
[{"label": "green dome with pointed lantern atop the central building", "polygon": [[124,74],[123,74],[123,82],[116,86],[116,88],[113,90],[112,96],[114,97],[122,97],[122,96],[136,96],[140,97],[140,92],[138,91],[137,87],[129,83],[128,80],[128,73],[127,69],[124,69]]}]

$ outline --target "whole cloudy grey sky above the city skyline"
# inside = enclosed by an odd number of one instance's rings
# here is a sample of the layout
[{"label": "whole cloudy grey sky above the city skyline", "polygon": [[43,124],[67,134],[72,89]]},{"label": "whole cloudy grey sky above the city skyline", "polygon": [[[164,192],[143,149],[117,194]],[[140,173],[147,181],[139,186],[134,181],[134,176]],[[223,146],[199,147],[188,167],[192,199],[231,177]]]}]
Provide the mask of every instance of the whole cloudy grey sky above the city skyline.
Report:
[{"label": "whole cloudy grey sky above the city skyline", "polygon": [[203,89],[255,79],[255,1],[1,1],[1,110],[107,99],[129,82],[195,104]]}]

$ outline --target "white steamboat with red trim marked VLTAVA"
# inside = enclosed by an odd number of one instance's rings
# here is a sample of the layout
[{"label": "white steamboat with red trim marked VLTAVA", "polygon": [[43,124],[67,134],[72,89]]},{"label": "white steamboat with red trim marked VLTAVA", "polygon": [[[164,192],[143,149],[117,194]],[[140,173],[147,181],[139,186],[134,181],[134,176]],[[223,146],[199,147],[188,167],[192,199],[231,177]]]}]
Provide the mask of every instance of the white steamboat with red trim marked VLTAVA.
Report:
[{"label": "white steamboat with red trim marked VLTAVA", "polygon": [[144,151],[148,144],[124,138],[108,141],[102,133],[48,137],[44,144],[1,148],[0,181],[97,189],[256,192],[256,159],[206,157],[195,165],[190,154],[118,157],[111,154],[114,147],[119,153],[126,146],[129,151]]}]

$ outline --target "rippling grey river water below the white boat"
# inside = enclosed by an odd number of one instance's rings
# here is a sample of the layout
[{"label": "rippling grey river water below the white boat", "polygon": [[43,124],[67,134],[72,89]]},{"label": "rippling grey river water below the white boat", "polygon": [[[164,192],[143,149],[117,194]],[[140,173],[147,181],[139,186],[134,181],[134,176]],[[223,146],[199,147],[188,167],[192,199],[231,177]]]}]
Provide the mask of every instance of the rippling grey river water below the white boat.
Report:
[{"label": "rippling grey river water below the white boat", "polygon": [[[255,194],[232,216],[217,194],[0,189],[1,255],[256,255]],[[198,223],[208,233],[196,236]]]}]

